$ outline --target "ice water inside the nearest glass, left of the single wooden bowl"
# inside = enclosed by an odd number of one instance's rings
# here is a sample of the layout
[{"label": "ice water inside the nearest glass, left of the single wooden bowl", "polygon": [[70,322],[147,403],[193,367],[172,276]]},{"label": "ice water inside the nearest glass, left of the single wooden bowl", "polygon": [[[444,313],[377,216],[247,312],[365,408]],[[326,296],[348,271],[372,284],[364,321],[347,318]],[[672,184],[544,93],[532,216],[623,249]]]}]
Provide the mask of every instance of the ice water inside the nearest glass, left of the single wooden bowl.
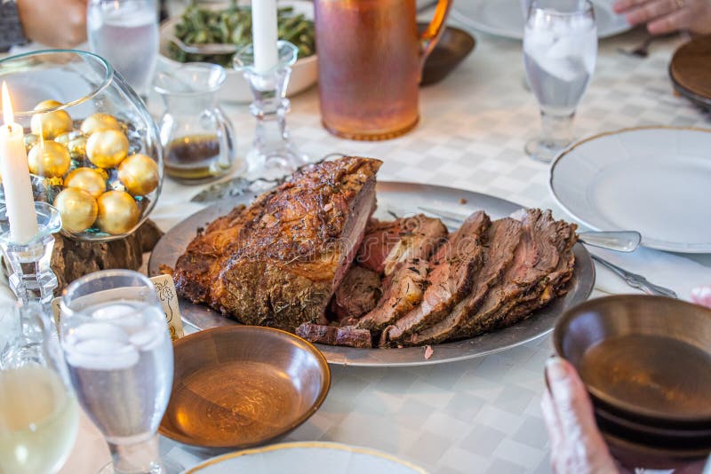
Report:
[{"label": "ice water inside the nearest glass, left of the single wooden bowl", "polygon": [[140,302],[84,308],[91,320],[63,340],[76,396],[107,441],[152,438],[172,387],[172,343],[160,308]]}]

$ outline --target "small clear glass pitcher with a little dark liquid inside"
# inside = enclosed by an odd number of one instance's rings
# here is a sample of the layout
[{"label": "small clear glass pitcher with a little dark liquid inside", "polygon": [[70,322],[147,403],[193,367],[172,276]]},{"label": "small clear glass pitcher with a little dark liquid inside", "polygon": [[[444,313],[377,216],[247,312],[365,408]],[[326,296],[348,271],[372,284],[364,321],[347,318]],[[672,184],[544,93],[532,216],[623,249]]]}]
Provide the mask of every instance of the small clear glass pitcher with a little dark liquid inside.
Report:
[{"label": "small clear glass pitcher with a little dark liquid inside", "polygon": [[198,184],[232,170],[235,130],[216,100],[226,77],[223,67],[207,63],[156,75],[154,88],[165,107],[158,126],[169,177]]}]

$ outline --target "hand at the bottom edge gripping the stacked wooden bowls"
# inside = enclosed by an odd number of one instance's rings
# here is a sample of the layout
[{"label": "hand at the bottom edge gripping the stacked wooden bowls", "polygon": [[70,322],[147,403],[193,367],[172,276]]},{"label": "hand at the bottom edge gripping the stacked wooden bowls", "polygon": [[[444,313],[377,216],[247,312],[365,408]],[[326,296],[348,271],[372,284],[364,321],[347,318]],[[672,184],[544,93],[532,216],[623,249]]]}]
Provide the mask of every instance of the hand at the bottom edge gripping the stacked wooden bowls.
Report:
[{"label": "hand at the bottom edge gripping the stacked wooden bowls", "polygon": [[548,390],[541,408],[557,474],[619,472],[595,424],[593,404],[575,368],[559,357],[546,363]]}]

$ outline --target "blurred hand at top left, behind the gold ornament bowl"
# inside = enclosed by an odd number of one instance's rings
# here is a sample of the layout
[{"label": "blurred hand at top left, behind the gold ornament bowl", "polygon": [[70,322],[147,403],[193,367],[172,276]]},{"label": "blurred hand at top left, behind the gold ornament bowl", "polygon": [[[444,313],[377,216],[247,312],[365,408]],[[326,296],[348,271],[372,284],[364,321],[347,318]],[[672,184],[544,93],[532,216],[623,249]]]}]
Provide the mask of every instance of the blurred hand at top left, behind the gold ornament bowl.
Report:
[{"label": "blurred hand at top left, behind the gold ornament bowl", "polygon": [[17,0],[25,36],[52,48],[86,41],[87,0]]}]

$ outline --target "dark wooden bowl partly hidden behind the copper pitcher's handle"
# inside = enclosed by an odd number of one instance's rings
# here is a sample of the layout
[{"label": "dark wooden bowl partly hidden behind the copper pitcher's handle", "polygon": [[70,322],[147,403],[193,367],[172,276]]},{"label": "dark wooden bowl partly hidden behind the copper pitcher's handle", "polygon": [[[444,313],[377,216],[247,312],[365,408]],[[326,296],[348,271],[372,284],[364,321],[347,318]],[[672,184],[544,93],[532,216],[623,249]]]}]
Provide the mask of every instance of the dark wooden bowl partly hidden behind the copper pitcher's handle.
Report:
[{"label": "dark wooden bowl partly hidden behind the copper pitcher's handle", "polygon": [[[427,29],[427,23],[418,23],[419,32]],[[459,66],[475,46],[474,37],[459,28],[444,28],[442,37],[435,45],[435,49],[425,59],[422,69],[422,80],[419,85],[439,83]]]}]

